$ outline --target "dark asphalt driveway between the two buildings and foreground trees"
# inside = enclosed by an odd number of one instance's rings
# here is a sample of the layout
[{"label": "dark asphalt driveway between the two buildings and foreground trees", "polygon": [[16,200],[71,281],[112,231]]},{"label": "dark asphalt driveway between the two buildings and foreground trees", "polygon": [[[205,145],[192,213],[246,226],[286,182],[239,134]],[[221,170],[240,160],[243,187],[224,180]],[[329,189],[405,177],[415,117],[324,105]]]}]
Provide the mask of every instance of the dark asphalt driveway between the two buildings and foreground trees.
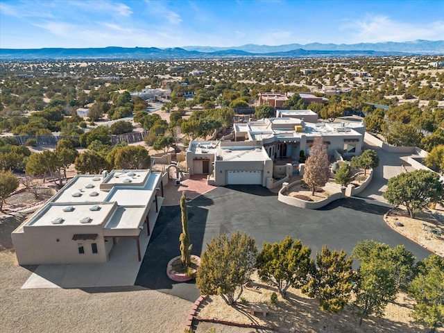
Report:
[{"label": "dark asphalt driveway between the two buildings and foreground trees", "polygon": [[[372,200],[347,198],[320,210],[303,210],[280,203],[278,196],[264,187],[238,185],[217,187],[188,206],[191,253],[198,255],[212,237],[236,230],[250,234],[259,249],[263,241],[280,241],[289,234],[310,246],[312,255],[323,244],[350,254],[357,241],[364,239],[390,246],[404,244],[418,259],[430,254],[388,228],[382,215],[389,206]],[[180,207],[162,207],[135,284],[194,302],[200,295],[194,281],[172,282],[166,273],[169,259],[180,255],[180,231]]]}]

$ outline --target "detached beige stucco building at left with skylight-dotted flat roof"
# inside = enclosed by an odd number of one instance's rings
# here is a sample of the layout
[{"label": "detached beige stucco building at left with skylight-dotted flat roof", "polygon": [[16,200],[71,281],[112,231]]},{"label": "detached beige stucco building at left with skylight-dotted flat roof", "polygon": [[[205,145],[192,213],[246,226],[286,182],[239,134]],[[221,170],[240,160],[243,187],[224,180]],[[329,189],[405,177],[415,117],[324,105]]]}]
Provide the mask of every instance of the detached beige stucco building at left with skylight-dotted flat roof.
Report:
[{"label": "detached beige stucco building at left with skylight-dotted flat roof", "polygon": [[17,262],[107,262],[121,237],[135,239],[140,261],[139,234],[145,223],[149,233],[161,189],[162,173],[149,169],[76,176],[12,232]]}]

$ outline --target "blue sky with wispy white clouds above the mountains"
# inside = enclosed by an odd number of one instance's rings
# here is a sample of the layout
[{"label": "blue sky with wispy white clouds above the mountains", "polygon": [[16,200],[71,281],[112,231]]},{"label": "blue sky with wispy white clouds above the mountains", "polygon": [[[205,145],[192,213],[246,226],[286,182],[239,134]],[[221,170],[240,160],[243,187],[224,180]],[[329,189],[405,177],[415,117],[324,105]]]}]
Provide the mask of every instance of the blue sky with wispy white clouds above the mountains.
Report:
[{"label": "blue sky with wispy white clouds above the mountains", "polygon": [[0,0],[0,48],[444,40],[443,0]]}]

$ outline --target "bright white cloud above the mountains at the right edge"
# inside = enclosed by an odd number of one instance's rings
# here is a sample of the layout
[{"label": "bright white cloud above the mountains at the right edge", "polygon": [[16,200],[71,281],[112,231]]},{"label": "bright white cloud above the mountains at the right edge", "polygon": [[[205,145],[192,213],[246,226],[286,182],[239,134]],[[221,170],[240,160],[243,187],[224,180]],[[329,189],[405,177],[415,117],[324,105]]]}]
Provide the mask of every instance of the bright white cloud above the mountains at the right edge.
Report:
[{"label": "bright white cloud above the mountains at the right edge", "polygon": [[411,40],[443,39],[444,22],[411,24],[396,22],[384,15],[366,15],[341,26],[350,31],[352,42],[407,42]]}]

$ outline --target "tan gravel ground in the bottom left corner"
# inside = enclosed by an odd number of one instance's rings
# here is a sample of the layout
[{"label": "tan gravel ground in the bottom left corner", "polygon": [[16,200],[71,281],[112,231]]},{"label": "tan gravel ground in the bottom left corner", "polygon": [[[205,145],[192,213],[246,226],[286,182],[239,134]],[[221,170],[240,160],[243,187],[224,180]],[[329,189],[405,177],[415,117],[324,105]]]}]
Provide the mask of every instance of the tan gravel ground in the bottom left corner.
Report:
[{"label": "tan gravel ground in the bottom left corner", "polygon": [[0,332],[183,332],[192,303],[151,289],[20,289],[35,267],[18,266],[1,235]]}]

